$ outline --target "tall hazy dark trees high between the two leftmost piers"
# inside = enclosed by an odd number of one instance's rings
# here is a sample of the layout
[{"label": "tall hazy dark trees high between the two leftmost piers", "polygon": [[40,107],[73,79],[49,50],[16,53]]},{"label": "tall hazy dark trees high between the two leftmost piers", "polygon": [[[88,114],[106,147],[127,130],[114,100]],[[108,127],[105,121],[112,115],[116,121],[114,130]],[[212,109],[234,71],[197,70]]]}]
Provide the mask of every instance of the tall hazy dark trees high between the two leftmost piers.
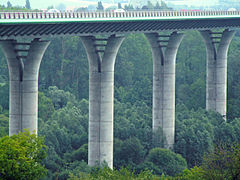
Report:
[{"label": "tall hazy dark trees high between the two leftmost piers", "polygon": [[88,98],[88,61],[78,37],[52,40],[39,76],[40,90],[44,92],[49,86],[69,91],[78,99]]}]

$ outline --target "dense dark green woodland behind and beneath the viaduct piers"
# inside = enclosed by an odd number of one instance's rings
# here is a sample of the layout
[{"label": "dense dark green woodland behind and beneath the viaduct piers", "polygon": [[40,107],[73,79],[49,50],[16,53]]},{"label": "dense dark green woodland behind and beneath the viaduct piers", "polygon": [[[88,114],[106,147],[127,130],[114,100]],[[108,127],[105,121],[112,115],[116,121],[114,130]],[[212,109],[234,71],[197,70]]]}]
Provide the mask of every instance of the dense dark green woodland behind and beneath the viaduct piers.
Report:
[{"label": "dense dark green woodland behind and beneath the viaduct piers", "polygon": [[[173,152],[152,139],[152,54],[143,34],[124,40],[115,64],[114,167],[176,176],[199,166],[220,144],[240,142],[240,34],[228,57],[228,120],[205,108],[206,53],[197,31],[185,32],[176,65]],[[8,68],[0,51],[0,137],[8,134]],[[78,37],[51,39],[39,75],[39,136],[48,146],[45,179],[90,173],[88,60]],[[162,137],[161,133],[158,136]],[[166,158],[166,159],[165,159]]]}]

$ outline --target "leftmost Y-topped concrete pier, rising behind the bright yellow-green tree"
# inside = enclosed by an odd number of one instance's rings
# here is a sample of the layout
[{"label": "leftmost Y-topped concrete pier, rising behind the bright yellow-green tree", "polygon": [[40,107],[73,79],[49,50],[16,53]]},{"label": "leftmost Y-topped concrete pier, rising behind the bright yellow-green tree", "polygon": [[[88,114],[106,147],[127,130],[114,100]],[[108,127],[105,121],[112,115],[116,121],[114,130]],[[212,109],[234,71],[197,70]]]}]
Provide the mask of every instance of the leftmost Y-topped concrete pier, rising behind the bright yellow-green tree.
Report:
[{"label": "leftmost Y-topped concrete pier, rising behind the bright yellow-green tree", "polygon": [[[38,131],[38,72],[47,41],[1,41],[9,68],[9,135]],[[24,55],[21,55],[23,53]]]}]

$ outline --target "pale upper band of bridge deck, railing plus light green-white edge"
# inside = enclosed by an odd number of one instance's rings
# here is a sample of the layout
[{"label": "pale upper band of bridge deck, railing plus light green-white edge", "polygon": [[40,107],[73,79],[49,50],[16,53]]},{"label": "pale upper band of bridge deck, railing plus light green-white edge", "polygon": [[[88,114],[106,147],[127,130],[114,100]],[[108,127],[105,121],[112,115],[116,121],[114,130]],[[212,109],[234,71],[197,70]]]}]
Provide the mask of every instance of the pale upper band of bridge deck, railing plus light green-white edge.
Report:
[{"label": "pale upper band of bridge deck, railing plus light green-white edge", "polygon": [[240,11],[0,12],[0,24],[240,18]]}]

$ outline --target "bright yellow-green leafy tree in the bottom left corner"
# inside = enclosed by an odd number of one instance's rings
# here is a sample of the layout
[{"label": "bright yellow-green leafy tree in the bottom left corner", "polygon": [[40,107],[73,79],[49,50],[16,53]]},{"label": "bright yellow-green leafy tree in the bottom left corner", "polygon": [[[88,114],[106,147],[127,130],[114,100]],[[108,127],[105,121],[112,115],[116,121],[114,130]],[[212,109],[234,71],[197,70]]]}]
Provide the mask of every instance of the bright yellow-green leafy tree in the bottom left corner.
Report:
[{"label": "bright yellow-green leafy tree in the bottom left corner", "polygon": [[44,139],[20,132],[0,139],[0,179],[39,179],[47,172],[41,165],[46,157]]}]

